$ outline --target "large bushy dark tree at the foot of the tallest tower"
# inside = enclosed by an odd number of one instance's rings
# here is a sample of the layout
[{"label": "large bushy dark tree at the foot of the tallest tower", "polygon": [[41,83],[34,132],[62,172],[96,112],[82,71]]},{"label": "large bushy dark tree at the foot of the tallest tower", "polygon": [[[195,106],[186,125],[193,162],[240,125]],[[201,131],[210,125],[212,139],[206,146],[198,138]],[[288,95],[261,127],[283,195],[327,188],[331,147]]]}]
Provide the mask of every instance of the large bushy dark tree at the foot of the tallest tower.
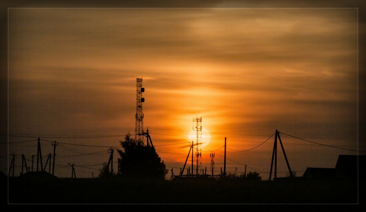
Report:
[{"label": "large bushy dark tree at the foot of the tallest tower", "polygon": [[120,176],[126,178],[165,179],[168,169],[154,147],[136,142],[128,133],[120,141],[123,150],[117,149],[120,159]]}]

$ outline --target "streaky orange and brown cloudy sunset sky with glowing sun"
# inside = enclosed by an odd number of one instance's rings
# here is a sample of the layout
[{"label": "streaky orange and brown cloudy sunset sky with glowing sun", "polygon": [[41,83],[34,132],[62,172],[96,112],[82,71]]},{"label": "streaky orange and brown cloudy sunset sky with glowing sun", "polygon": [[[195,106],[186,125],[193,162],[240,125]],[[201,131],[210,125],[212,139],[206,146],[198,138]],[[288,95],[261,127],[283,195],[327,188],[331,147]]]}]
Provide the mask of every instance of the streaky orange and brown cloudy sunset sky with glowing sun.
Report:
[{"label": "streaky orange and brown cloudy sunset sky with glowing sun", "polygon": [[[11,8],[8,36],[9,133],[119,146],[123,136],[46,135],[134,134],[136,78],[142,78],[143,124],[154,145],[191,141],[192,119],[202,117],[208,131],[203,135],[210,136],[202,167],[210,167],[210,151],[224,146],[225,137],[228,148],[247,150],[276,129],[366,150],[358,140],[357,8]],[[33,140],[1,136],[2,143],[7,139]],[[339,154],[357,154],[281,139],[298,176],[306,167],[335,167]],[[228,150],[227,170],[242,172],[246,164],[247,171],[269,172],[273,141],[250,151]],[[30,158],[36,144],[9,145],[1,156]],[[56,164],[108,162],[107,149],[62,144]],[[169,169],[183,167],[189,144],[156,150]],[[284,172],[280,150],[277,170]],[[42,156],[51,151],[43,141]],[[220,171],[224,149],[215,152]],[[1,170],[7,172],[4,159]],[[91,171],[96,177],[98,170],[77,167],[76,176],[91,177]],[[71,170],[55,173],[69,177]],[[268,174],[261,176],[268,180]]]}]

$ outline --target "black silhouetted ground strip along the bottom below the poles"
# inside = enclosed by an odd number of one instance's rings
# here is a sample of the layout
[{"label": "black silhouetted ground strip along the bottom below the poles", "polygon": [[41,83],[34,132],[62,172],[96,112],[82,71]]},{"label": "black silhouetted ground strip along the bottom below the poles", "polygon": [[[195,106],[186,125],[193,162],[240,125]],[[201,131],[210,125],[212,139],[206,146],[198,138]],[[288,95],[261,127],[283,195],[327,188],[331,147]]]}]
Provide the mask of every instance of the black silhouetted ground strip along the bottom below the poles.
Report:
[{"label": "black silhouetted ground strip along the bottom below the poles", "polygon": [[[6,181],[7,178],[3,178]],[[6,184],[6,182],[4,182]],[[4,185],[3,184],[3,185]],[[359,191],[358,191],[359,188]],[[9,178],[9,203],[351,203],[363,201],[354,180],[131,180]],[[192,198],[199,194],[199,198]]]}]

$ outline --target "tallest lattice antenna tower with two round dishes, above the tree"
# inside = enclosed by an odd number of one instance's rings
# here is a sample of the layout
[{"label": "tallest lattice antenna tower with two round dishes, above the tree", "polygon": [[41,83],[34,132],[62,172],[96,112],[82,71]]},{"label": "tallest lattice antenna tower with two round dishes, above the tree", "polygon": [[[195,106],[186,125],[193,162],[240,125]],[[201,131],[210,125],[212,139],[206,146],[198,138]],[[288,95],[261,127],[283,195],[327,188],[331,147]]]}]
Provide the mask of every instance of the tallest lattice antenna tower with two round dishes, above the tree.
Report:
[{"label": "tallest lattice antenna tower with two round dishes, above the tree", "polygon": [[145,144],[143,133],[143,113],[142,113],[142,103],[145,101],[145,98],[142,98],[142,92],[145,91],[145,88],[142,88],[142,79],[136,78],[136,127],[135,127],[135,140],[138,143]]}]

